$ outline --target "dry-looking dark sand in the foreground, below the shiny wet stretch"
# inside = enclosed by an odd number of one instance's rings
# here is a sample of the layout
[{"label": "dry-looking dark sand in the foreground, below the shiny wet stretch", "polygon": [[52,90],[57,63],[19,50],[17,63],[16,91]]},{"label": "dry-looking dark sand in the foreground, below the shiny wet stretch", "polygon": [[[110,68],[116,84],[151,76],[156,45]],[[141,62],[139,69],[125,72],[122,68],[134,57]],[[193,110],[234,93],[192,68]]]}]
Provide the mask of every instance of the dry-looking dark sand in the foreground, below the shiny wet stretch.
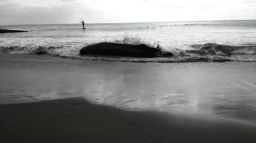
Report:
[{"label": "dry-looking dark sand in the foreground, below the shiny wet stretch", "polygon": [[256,125],[131,112],[83,98],[0,105],[0,142],[256,142]]}]

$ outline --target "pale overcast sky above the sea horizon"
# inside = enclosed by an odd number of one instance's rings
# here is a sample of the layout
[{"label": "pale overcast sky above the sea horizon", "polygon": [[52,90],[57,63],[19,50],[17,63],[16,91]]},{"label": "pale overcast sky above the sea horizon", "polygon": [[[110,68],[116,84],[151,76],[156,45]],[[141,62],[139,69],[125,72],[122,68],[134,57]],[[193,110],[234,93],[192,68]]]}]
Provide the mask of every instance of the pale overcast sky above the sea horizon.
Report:
[{"label": "pale overcast sky above the sea horizon", "polygon": [[256,0],[0,0],[0,25],[256,19]]}]

